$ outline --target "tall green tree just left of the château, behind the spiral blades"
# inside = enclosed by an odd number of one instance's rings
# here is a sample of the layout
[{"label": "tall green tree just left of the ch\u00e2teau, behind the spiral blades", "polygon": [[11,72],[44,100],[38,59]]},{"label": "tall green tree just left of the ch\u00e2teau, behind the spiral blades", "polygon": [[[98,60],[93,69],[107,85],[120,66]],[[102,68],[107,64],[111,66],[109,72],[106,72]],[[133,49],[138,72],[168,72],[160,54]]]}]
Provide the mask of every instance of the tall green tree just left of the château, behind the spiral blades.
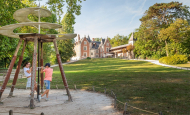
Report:
[{"label": "tall green tree just left of the ch\u00e2teau, behind the spiral blades", "polygon": [[[85,1],[85,0],[84,0]],[[67,34],[67,33],[74,33],[74,24],[75,22],[75,15],[81,14],[81,5],[80,3],[82,0],[66,0],[67,3],[67,13],[63,17],[61,24],[63,26],[60,33]],[[58,47],[60,51],[60,56],[62,61],[67,61],[70,57],[74,55],[74,39],[72,40],[60,40],[58,42]]]}]

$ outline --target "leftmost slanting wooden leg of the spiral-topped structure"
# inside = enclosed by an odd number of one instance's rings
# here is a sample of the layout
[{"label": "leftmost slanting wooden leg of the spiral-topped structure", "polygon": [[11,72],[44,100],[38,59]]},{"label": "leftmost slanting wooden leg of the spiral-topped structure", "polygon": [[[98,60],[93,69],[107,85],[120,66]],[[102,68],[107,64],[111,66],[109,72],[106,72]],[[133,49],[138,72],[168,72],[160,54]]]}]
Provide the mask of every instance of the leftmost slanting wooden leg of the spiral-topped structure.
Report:
[{"label": "leftmost slanting wooden leg of the spiral-topped structure", "polygon": [[8,81],[9,81],[9,78],[10,78],[10,75],[11,75],[11,72],[12,72],[12,69],[13,69],[13,66],[14,66],[14,63],[15,63],[15,61],[16,61],[16,57],[17,57],[18,50],[19,50],[19,48],[20,48],[20,45],[22,44],[22,40],[23,40],[23,39],[20,38],[20,40],[19,40],[19,42],[18,42],[18,45],[17,45],[17,47],[16,47],[16,50],[15,50],[15,53],[14,53],[14,55],[13,55],[13,58],[12,58],[12,60],[11,60],[9,69],[8,69],[8,71],[7,71],[5,80],[4,80],[4,82],[3,82],[3,85],[1,86],[1,90],[0,90],[0,100],[1,100],[1,96],[2,96],[2,94],[3,94],[4,90],[5,90],[5,88],[6,88],[6,86],[7,86],[7,83],[8,83]]}]

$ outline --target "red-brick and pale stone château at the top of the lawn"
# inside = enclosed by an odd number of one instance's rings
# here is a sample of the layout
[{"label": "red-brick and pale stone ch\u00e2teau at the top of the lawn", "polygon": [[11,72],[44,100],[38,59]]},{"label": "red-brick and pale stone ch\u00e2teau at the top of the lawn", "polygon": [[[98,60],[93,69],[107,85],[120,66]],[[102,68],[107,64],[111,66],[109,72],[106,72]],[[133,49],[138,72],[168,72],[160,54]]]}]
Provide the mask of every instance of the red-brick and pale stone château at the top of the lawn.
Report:
[{"label": "red-brick and pale stone ch\u00e2teau at the top of the lawn", "polygon": [[83,59],[87,57],[91,58],[103,58],[107,57],[111,44],[108,39],[101,39],[101,41],[95,41],[94,38],[90,39],[90,36],[86,38],[80,38],[75,42],[74,51],[76,56],[72,57],[72,60]]}]

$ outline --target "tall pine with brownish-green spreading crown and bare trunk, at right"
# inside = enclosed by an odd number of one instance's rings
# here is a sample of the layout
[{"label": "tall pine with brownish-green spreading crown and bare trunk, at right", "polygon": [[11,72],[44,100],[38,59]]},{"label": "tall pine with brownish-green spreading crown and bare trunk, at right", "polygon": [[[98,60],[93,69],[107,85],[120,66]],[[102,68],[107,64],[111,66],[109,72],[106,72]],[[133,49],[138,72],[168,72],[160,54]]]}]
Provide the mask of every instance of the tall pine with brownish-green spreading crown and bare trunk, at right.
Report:
[{"label": "tall pine with brownish-green spreading crown and bare trunk, at right", "polygon": [[[141,22],[148,20],[156,20],[158,28],[167,28],[177,18],[186,19],[190,22],[189,7],[183,6],[179,2],[170,3],[156,3],[145,12],[144,16],[140,19]],[[168,41],[164,40],[166,46],[166,54],[168,54]]]}]

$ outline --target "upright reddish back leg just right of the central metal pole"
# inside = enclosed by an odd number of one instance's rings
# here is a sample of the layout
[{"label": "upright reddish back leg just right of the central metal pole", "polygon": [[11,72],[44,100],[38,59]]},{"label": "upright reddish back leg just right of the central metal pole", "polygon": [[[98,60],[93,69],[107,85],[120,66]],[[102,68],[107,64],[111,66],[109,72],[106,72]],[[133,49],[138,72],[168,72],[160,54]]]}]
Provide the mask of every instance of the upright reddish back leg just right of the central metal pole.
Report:
[{"label": "upright reddish back leg just right of the central metal pole", "polygon": [[[41,42],[40,66],[43,66],[43,42]],[[43,93],[44,92],[44,73],[41,73],[40,77],[41,77],[41,93]]]}]

